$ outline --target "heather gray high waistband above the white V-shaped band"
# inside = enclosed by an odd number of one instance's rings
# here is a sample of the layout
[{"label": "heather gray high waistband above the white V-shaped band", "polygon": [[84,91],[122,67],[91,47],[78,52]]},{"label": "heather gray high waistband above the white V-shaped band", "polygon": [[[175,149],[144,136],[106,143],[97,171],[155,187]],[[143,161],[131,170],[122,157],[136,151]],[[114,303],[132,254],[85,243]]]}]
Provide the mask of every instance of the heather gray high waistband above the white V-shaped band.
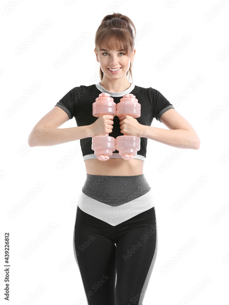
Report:
[{"label": "heather gray high waistband above the white V-shaped band", "polygon": [[102,203],[119,206],[146,194],[150,189],[144,174],[137,176],[87,174],[82,192]]}]

